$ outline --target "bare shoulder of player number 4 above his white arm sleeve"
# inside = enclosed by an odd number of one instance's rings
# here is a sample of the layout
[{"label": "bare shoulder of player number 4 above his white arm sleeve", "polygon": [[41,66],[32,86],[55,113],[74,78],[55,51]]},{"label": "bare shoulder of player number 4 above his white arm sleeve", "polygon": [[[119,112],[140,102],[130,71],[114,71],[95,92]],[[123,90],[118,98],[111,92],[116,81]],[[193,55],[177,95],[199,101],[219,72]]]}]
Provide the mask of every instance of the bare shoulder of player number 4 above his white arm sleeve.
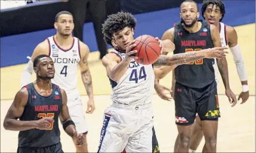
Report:
[{"label": "bare shoulder of player number 4 above his white arm sleeve", "polygon": [[46,39],[44,40],[44,42],[39,43],[35,47],[33,54],[31,56],[31,60],[33,61],[38,55],[49,55],[49,53],[50,53],[50,44]]}]

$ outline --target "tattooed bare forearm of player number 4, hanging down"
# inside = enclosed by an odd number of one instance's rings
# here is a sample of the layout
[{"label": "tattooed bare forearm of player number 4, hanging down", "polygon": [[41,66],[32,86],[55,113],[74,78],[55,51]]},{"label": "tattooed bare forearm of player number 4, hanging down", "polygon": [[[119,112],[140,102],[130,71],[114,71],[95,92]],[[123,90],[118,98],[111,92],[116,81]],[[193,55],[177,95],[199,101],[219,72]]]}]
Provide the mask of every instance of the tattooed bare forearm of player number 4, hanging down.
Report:
[{"label": "tattooed bare forearm of player number 4, hanging down", "polygon": [[93,90],[92,90],[92,79],[91,79],[91,72],[89,69],[86,71],[81,72],[82,81],[85,86],[85,90],[87,92],[87,95],[90,99],[93,99]]}]

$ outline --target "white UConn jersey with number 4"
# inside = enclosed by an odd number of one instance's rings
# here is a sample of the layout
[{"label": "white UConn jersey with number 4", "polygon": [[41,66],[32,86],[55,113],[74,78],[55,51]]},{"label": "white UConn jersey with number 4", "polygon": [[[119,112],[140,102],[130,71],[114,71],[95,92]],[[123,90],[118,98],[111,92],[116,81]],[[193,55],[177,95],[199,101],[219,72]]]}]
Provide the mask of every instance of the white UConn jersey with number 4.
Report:
[{"label": "white UConn jersey with number 4", "polygon": [[67,94],[76,90],[78,62],[80,61],[79,39],[73,37],[73,45],[68,50],[61,49],[55,43],[54,37],[48,37],[50,43],[50,57],[54,61],[54,84],[63,88]]}]

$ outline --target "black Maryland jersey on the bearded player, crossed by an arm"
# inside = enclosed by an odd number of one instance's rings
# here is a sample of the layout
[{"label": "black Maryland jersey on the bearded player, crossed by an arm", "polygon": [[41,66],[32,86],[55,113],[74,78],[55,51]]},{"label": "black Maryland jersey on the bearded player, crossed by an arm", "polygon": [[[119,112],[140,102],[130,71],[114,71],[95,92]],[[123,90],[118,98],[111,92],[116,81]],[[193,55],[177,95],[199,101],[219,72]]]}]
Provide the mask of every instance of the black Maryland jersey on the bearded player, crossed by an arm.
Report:
[{"label": "black Maryland jersey on the bearded player, crossed by an arm", "polygon": [[[201,20],[199,20],[201,21]],[[175,25],[174,54],[185,52],[200,52],[202,49],[214,47],[211,38],[210,26],[202,22],[197,33],[189,33],[181,23]],[[215,81],[214,59],[200,59],[194,62],[179,65],[174,69],[178,83],[192,88],[202,88]]]}]

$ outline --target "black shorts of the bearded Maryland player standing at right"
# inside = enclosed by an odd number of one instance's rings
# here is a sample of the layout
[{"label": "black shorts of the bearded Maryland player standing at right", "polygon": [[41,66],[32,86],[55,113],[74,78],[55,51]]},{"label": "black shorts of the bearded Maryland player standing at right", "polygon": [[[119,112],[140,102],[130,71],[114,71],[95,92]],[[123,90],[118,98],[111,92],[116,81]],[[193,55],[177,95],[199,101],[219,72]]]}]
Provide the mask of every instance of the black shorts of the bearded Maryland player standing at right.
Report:
[{"label": "black shorts of the bearded Maryland player standing at right", "polygon": [[196,113],[201,120],[220,117],[216,81],[203,88],[190,88],[176,82],[174,100],[176,125],[193,124]]}]

